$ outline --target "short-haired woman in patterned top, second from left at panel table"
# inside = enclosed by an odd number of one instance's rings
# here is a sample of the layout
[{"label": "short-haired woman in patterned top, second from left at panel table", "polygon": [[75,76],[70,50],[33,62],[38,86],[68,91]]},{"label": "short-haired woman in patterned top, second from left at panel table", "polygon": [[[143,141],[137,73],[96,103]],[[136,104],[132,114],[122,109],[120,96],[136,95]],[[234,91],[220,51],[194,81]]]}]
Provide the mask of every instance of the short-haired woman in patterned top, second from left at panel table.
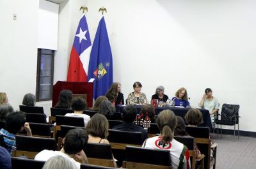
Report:
[{"label": "short-haired woman in patterned top, second from left at panel table", "polygon": [[127,98],[127,105],[145,105],[148,103],[146,94],[141,92],[141,83],[135,82],[133,84],[134,92],[130,92]]}]

